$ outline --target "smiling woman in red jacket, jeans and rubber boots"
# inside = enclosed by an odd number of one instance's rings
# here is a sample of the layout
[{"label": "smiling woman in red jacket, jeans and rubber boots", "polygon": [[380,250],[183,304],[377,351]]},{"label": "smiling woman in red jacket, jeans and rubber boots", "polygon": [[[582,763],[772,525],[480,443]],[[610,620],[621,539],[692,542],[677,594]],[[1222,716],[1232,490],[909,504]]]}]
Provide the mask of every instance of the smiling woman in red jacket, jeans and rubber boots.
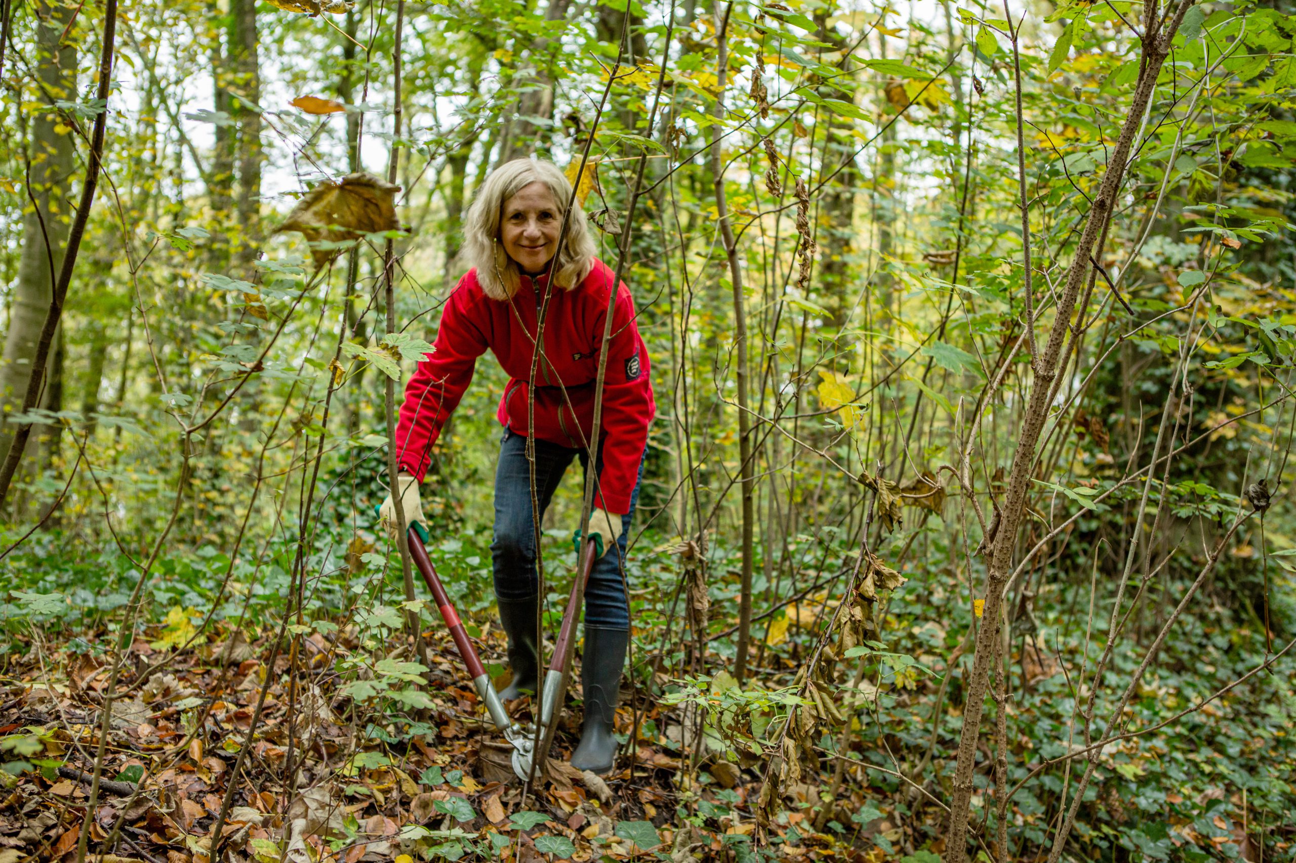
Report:
[{"label": "smiling woman in red jacket, jeans and rubber boots", "polygon": [[[397,426],[406,521],[424,522],[419,483],[433,442],[472,381],[477,358],[490,349],[509,374],[498,411],[504,434],[495,470],[491,543],[495,596],[513,670],[512,683],[500,693],[504,698],[535,692],[538,685],[534,525],[544,517],[572,460],[579,459],[588,470],[595,377],[613,289],[613,272],[594,255],[578,203],[573,202],[564,227],[568,201],[572,185],[552,162],[516,159],[486,178],[464,219],[463,258],[470,268],[446,301],[434,352],[424,356],[406,386]],[[613,718],[630,641],[621,561],[654,412],[648,351],[635,325],[634,301],[625,284],[616,288],[590,531],[617,542],[608,543],[586,587],[584,724],[572,755],[574,767],[596,772],[612,770],[616,758]],[[544,342],[535,363],[535,386],[530,387],[542,306]],[[534,512],[529,438],[535,447]],[[381,516],[389,524],[395,521],[391,495]]]}]

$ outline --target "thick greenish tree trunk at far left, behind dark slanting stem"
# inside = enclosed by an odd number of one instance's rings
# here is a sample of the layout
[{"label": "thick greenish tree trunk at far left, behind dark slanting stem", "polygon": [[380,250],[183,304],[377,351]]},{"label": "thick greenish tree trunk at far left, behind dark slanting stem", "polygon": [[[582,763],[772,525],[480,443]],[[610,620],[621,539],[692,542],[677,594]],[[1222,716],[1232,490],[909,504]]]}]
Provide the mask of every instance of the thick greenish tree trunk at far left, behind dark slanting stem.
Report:
[{"label": "thick greenish tree trunk at far left, behind dark slanting stem", "polygon": [[[56,131],[58,111],[45,100],[76,98],[76,48],[60,39],[73,8],[38,0],[36,80],[45,95],[31,122],[30,193],[22,219],[22,251],[9,308],[4,360],[0,362],[0,411],[21,409],[36,343],[53,298],[54,273],[62,264],[73,203],[67,200],[74,170],[71,131]],[[48,238],[48,244],[47,244]],[[0,452],[8,452],[13,430],[0,426]]]}]

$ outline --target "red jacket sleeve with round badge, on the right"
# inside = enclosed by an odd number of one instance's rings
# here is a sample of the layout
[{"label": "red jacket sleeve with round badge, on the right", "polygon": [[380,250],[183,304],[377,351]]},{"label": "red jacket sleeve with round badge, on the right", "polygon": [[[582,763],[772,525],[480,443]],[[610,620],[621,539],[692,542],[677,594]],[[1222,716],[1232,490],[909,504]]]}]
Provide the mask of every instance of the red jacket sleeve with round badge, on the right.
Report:
[{"label": "red jacket sleeve with round badge, on the right", "polygon": [[[599,321],[600,329],[603,323]],[[648,350],[635,324],[634,299],[622,282],[617,285],[608,365],[603,380],[603,428],[607,438],[603,443],[596,507],[622,516],[630,512],[630,496],[639,481],[639,464],[648,443],[648,424],[653,411]]]}]

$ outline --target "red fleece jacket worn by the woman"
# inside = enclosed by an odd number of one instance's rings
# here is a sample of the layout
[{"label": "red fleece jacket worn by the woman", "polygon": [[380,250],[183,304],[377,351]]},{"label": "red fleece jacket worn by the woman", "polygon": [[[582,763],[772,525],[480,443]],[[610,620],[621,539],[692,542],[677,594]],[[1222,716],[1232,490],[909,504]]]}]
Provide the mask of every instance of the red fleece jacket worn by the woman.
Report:
[{"label": "red fleece jacket worn by the woman", "polygon": [[[594,430],[594,384],[607,320],[612,270],[594,259],[590,275],[572,290],[556,289],[544,323],[544,350],[535,371],[535,437],[565,447],[583,447]],[[517,434],[527,428],[527,380],[531,374],[544,277],[522,276],[511,301],[482,293],[469,270],[441,312],[434,352],[424,356],[406,385],[397,459],[422,481],[432,444],[473,380],[477,358],[490,349],[509,374],[499,403],[499,421]],[[656,412],[648,374],[648,350],[635,325],[635,305],[625,282],[617,286],[612,339],[603,384],[603,472],[595,505],[630,512],[630,494]],[[564,389],[566,390],[564,398]],[[601,499],[600,499],[601,498]]]}]

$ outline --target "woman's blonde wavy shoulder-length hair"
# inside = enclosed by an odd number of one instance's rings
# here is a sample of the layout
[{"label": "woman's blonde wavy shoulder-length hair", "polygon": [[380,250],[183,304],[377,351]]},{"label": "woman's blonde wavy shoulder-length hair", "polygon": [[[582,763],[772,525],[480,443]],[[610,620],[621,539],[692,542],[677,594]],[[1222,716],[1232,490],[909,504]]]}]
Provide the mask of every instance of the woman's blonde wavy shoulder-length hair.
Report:
[{"label": "woman's blonde wavy shoulder-length hair", "polygon": [[477,268],[477,282],[491,299],[508,299],[521,285],[517,263],[498,242],[499,220],[504,202],[533,183],[548,187],[560,211],[572,201],[566,231],[559,240],[557,259],[552,263],[553,284],[572,290],[590,272],[596,249],[586,225],[584,210],[572,198],[572,183],[553,162],[513,159],[490,172],[464,215],[464,247],[459,260]]}]

